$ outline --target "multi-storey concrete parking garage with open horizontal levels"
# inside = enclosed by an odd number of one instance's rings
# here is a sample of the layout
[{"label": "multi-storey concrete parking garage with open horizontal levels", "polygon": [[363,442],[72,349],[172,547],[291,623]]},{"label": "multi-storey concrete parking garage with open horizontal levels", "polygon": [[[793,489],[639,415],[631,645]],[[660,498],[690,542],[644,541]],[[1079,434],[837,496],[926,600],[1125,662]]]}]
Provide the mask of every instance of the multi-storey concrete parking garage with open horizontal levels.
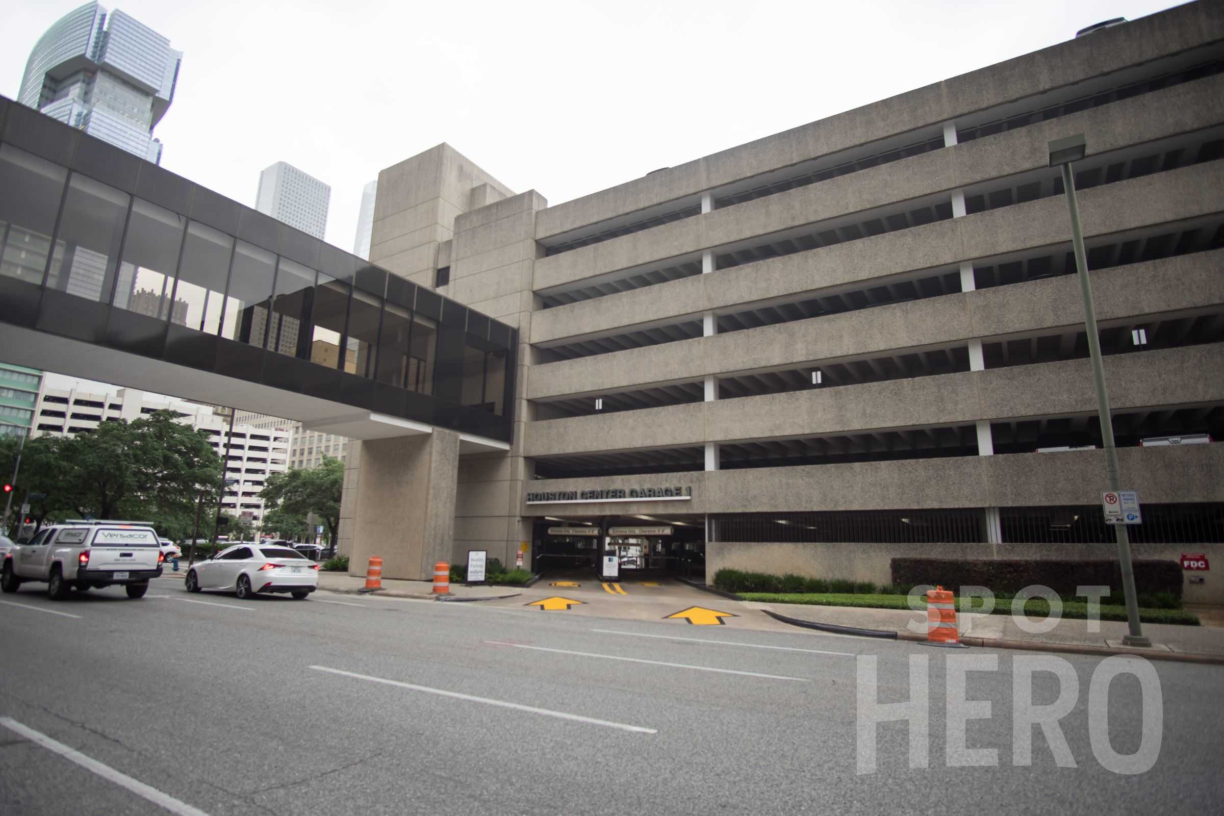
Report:
[{"label": "multi-storey concrete parking garage with open horizontal levels", "polygon": [[[453,471],[437,557],[657,525],[707,579],[1113,558],[1048,166],[1075,133],[1136,554],[1219,554],[1224,447],[1151,442],[1224,438],[1224,6],[1192,2],[553,207],[447,144],[383,170],[371,261],[518,329],[509,450],[412,454]],[[343,546],[393,533],[383,447],[350,453]]]}]

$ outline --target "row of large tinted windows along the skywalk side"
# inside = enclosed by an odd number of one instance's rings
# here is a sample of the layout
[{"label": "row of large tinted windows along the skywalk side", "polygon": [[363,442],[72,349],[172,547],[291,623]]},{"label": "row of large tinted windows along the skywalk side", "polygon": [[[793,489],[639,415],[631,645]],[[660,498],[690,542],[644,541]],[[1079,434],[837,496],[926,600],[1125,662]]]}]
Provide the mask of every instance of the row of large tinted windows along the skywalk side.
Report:
[{"label": "row of large tinted windows along the skywalk side", "polygon": [[[317,265],[0,144],[0,276],[432,396],[442,334],[417,308],[439,303],[416,302],[432,292],[362,291],[327,246]],[[464,406],[504,415],[508,357],[466,335]]]}]

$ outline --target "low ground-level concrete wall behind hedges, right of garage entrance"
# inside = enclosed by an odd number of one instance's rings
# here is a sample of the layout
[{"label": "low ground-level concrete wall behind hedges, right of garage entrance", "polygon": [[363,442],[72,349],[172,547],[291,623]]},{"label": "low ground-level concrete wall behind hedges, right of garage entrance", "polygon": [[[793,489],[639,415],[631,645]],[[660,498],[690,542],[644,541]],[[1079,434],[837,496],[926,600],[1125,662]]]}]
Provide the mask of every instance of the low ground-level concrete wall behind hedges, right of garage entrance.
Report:
[{"label": "low ground-level concrete wall behind hedges, right of garage entrance", "polygon": [[[1224,564],[1224,544],[1131,544],[1135,559],[1180,563],[1181,553],[1206,553],[1211,563]],[[705,580],[721,569],[805,577],[845,579],[891,584],[894,558],[949,558],[956,560],[1070,559],[1113,560],[1114,544],[875,544],[875,543],[734,543],[710,542],[705,547]],[[1202,584],[1191,584],[1202,576]],[[1224,579],[1211,571],[1184,573],[1186,603],[1224,603]],[[953,591],[956,587],[950,587]]]}]

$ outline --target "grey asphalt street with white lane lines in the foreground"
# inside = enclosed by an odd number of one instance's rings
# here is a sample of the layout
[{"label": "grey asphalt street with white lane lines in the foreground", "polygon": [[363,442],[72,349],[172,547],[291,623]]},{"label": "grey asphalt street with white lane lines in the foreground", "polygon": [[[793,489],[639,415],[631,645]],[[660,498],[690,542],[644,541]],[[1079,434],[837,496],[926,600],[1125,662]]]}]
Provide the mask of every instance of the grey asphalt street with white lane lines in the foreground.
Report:
[{"label": "grey asphalt street with white lane lines in the foreground", "polygon": [[[552,595],[537,588],[523,603]],[[967,747],[996,762],[950,767],[946,669],[991,656],[967,675],[990,702]],[[1020,657],[521,604],[242,602],[171,579],[140,601],[27,585],[0,596],[0,814],[1220,812],[1224,668],[1149,664],[1159,752],[1120,774],[1089,734],[1093,657],[1059,658],[1078,678],[1060,721],[1076,767],[1040,727],[1032,765],[1013,762]],[[905,702],[923,661],[928,767],[889,722],[858,773],[859,673],[874,662],[867,692]],[[1032,694],[1054,702],[1055,675]],[[1116,754],[1140,747],[1136,677],[1113,680],[1099,724]]]}]

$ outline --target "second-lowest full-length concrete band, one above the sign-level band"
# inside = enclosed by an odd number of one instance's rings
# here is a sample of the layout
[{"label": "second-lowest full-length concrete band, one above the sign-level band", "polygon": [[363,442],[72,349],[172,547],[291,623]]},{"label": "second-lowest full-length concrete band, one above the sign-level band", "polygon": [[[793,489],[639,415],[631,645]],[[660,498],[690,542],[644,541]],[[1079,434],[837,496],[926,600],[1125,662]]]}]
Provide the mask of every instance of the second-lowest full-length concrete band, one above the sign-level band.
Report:
[{"label": "second-lowest full-length concrete band, one above the sign-level band", "polygon": [[[1224,344],[1105,358],[1114,411],[1224,402]],[[892,379],[532,422],[528,456],[1094,414],[1088,360]]]}]

